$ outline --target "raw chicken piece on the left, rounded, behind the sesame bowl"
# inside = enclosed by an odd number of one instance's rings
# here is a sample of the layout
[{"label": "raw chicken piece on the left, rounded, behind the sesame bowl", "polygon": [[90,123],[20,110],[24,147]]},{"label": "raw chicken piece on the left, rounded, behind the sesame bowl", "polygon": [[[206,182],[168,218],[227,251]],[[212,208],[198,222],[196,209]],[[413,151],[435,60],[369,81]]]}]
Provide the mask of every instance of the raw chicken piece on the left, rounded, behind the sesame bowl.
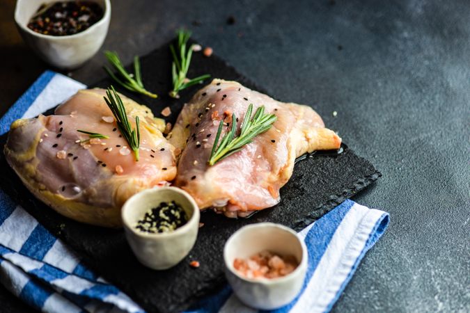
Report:
[{"label": "raw chicken piece on the left, rounded, behind the sesame bowl", "polygon": [[[80,222],[119,227],[120,207],[145,188],[176,175],[175,148],[150,109],[123,99],[132,127],[140,119],[139,161],[118,129],[102,89],[80,90],[54,115],[13,122],[4,152],[29,190]],[[77,130],[109,138],[90,139]]]}]

